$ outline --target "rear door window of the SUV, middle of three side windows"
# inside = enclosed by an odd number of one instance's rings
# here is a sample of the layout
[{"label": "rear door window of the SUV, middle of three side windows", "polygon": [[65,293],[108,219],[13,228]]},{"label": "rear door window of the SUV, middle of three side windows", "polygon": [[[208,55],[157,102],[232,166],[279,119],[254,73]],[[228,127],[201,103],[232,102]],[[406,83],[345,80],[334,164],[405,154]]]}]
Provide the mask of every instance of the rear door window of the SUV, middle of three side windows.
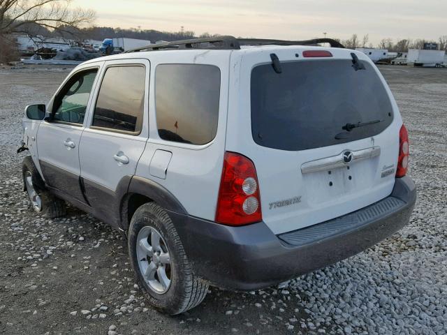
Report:
[{"label": "rear door window of the SUV, middle of three side windows", "polygon": [[94,127],[138,135],[145,101],[144,66],[113,66],[105,71],[94,111]]}]

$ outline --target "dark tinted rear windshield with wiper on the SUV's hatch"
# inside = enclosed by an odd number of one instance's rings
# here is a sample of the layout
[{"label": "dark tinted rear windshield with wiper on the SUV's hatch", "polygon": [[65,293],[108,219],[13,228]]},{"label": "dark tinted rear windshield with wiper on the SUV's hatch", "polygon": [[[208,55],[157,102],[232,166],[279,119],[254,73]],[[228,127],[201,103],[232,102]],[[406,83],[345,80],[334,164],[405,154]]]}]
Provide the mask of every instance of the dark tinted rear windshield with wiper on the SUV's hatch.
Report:
[{"label": "dark tinted rear windshield with wiper on the SUV's hatch", "polygon": [[[305,150],[381,133],[393,121],[393,106],[374,68],[362,64],[365,69],[356,71],[349,59],[283,62],[282,73],[271,64],[256,66],[251,72],[254,141]],[[363,125],[342,129],[359,122]]]}]

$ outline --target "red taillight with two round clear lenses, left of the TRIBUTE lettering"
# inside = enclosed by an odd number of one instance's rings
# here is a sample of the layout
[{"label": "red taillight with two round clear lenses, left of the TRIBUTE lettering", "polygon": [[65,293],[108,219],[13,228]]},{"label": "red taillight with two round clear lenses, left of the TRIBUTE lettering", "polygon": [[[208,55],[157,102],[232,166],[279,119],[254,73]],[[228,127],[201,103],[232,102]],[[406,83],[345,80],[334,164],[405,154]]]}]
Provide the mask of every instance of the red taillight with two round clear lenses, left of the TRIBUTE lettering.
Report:
[{"label": "red taillight with two round clear lenses, left of the TRIBUTE lettering", "polygon": [[262,219],[259,183],[253,162],[241,154],[226,152],[216,221],[224,225],[247,225]]}]

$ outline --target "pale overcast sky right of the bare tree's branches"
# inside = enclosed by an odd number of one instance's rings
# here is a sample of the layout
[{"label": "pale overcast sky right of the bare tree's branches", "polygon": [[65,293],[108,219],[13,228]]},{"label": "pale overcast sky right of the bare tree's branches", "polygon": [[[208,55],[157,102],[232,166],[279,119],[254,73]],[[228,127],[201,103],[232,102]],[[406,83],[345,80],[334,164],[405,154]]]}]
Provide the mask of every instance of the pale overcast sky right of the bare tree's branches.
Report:
[{"label": "pale overcast sky right of the bare tree's branches", "polygon": [[97,26],[192,30],[212,34],[305,39],[437,39],[447,35],[446,0],[73,0],[96,10]]}]

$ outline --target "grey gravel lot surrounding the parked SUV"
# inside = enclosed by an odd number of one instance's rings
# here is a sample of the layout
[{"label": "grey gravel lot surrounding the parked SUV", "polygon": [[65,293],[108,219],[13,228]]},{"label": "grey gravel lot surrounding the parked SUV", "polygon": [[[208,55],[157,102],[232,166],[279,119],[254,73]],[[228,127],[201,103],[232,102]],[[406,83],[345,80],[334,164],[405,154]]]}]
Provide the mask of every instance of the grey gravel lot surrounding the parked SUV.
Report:
[{"label": "grey gravel lot surrounding the parked SUV", "polygon": [[212,288],[174,318],[147,306],[118,232],[77,209],[48,220],[28,207],[22,111],[68,70],[0,68],[0,334],[447,334],[447,69],[381,67],[410,134],[406,228],[279,287]]}]

